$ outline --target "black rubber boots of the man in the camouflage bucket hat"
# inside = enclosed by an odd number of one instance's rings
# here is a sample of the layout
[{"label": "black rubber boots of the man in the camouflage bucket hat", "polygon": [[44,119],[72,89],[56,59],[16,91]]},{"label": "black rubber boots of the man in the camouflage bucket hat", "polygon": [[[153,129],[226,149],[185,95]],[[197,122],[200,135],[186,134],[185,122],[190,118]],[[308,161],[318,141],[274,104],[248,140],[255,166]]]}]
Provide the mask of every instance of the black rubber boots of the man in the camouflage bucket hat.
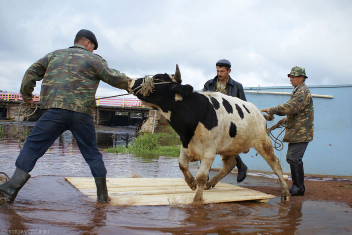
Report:
[{"label": "black rubber boots of the man in the camouflage bucket hat", "polygon": [[304,172],[302,164],[290,164],[292,187],[290,188],[291,196],[303,196],[304,195]]}]

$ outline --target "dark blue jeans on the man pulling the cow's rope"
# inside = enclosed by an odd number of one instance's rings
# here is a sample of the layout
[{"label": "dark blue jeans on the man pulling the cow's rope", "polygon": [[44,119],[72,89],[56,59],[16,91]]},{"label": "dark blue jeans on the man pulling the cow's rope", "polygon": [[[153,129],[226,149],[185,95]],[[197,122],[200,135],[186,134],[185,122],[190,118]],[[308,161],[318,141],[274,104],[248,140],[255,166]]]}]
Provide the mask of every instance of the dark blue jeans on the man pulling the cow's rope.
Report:
[{"label": "dark blue jeans on the man pulling the cow's rope", "polygon": [[37,160],[64,131],[70,130],[94,177],[105,177],[106,168],[98,150],[93,117],[65,109],[52,108],[44,112],[27,137],[17,157],[16,167],[30,172]]}]

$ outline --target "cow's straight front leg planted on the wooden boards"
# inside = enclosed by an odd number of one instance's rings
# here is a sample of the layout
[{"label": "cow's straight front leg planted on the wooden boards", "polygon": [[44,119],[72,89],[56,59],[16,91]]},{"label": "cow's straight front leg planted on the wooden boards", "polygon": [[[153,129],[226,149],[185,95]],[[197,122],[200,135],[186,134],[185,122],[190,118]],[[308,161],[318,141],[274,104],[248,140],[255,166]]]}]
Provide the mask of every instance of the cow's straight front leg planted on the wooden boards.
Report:
[{"label": "cow's straight front leg planted on the wooden boards", "polygon": [[196,181],[197,181],[197,191],[196,195],[193,198],[193,204],[199,205],[202,204],[203,202],[203,189],[205,186],[205,183],[207,182],[209,170],[211,167],[211,164],[213,163],[214,158],[209,159],[203,157],[201,160],[201,164],[199,166],[199,169],[197,171],[196,175]]}]

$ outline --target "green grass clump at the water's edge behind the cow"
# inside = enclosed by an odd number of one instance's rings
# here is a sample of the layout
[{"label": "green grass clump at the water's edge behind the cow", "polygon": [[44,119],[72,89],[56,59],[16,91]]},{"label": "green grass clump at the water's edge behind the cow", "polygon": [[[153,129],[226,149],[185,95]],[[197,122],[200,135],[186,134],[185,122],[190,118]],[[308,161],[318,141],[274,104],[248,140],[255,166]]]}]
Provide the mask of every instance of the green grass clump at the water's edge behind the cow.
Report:
[{"label": "green grass clump at the water's edge behind the cow", "polygon": [[146,153],[178,157],[180,155],[180,145],[161,146],[158,143],[158,139],[162,136],[163,134],[146,133],[135,138],[133,143],[127,148],[118,146],[116,148],[108,148],[105,150],[111,153]]}]

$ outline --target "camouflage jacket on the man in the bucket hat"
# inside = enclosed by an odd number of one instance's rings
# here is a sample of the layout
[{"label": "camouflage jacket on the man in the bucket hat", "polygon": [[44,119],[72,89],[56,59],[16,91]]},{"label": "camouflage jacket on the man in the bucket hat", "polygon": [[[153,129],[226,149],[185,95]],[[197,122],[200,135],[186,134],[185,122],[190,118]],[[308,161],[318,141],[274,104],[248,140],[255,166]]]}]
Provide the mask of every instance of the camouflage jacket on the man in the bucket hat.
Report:
[{"label": "camouflage jacket on the man in the bucket hat", "polygon": [[305,83],[292,92],[291,99],[286,104],[270,108],[270,114],[287,115],[284,142],[301,143],[313,140],[313,99]]}]

